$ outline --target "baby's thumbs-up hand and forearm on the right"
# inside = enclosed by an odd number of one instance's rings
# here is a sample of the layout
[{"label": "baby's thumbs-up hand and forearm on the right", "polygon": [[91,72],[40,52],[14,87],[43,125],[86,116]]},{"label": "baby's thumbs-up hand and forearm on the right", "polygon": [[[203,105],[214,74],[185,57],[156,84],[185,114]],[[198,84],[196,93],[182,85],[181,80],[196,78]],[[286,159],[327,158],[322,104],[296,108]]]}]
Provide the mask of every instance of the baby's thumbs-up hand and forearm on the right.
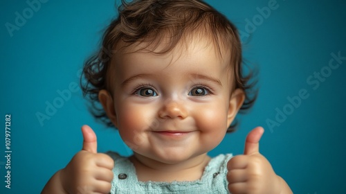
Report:
[{"label": "baby's thumbs-up hand and forearm on the right", "polygon": [[288,184],[275,174],[269,161],[259,152],[264,130],[257,127],[246,137],[244,155],[228,161],[228,190],[230,193],[291,194]]}]

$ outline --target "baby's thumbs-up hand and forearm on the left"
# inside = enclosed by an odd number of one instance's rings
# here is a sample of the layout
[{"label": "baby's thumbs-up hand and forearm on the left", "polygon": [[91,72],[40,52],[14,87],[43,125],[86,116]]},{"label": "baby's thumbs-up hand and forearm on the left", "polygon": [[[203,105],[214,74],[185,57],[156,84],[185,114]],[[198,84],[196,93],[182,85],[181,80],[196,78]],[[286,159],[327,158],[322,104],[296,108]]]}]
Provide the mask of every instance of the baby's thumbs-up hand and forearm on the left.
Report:
[{"label": "baby's thumbs-up hand and forearm on the left", "polygon": [[95,132],[82,126],[83,148],[61,170],[60,181],[66,193],[109,193],[114,161],[97,152]]}]

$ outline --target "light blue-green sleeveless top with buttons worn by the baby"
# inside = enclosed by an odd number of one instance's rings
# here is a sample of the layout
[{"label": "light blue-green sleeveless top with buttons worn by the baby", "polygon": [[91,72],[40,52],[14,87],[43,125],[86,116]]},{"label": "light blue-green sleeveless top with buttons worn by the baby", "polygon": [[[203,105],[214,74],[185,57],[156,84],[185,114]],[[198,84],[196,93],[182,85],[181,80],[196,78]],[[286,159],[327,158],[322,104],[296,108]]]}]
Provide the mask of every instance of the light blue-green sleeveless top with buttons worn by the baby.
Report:
[{"label": "light blue-green sleeveless top with buttons worn by the baby", "polygon": [[127,157],[116,152],[107,152],[114,160],[114,178],[111,182],[111,194],[115,193],[179,193],[179,194],[215,194],[229,193],[227,162],[232,155],[219,155],[212,158],[204,168],[201,179],[192,182],[140,182],[136,169]]}]

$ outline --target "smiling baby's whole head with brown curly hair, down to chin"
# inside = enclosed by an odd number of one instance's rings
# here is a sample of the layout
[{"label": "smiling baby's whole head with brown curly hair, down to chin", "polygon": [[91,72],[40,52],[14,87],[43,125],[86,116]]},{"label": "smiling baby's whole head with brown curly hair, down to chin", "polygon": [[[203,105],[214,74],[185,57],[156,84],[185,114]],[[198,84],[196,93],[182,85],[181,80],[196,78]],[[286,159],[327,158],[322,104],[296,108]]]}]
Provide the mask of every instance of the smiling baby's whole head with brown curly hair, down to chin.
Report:
[{"label": "smiling baby's whole head with brown curly hair, down to chin", "polygon": [[137,157],[172,164],[209,152],[255,100],[235,26],[197,0],[122,3],[84,66],[94,115]]}]

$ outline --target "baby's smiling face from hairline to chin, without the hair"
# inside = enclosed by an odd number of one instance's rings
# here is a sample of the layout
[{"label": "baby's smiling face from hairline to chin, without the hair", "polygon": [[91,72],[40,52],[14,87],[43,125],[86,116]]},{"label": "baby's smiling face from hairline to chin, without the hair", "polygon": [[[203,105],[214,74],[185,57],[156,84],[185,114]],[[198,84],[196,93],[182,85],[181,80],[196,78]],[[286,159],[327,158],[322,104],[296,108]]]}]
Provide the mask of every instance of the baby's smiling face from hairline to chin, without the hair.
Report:
[{"label": "baby's smiling face from hairline to chin, without the hair", "polygon": [[173,164],[224,138],[239,102],[229,56],[221,60],[212,44],[196,39],[165,55],[119,53],[112,62],[112,121],[137,155]]}]

